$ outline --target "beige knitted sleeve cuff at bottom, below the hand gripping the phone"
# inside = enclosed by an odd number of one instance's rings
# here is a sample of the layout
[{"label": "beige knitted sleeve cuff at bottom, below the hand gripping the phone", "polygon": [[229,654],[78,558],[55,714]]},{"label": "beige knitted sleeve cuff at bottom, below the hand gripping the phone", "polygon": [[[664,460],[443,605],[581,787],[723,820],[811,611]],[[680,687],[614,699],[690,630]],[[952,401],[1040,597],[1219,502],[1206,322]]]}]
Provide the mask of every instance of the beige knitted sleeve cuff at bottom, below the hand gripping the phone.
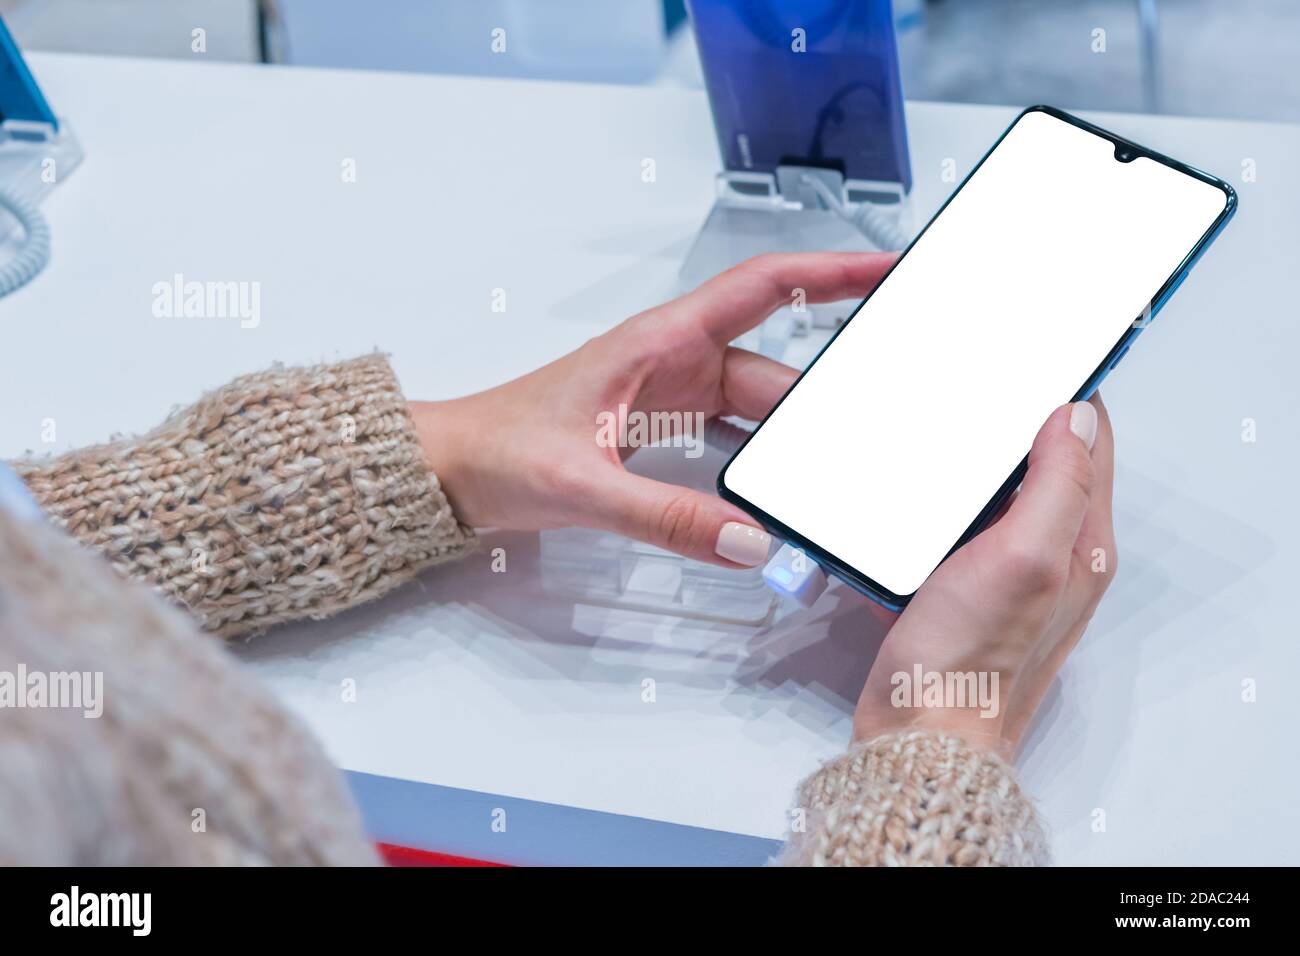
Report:
[{"label": "beige knitted sleeve cuff at bottom, below the hand gripping the phone", "polygon": [[954,736],[855,744],[800,787],[794,866],[1032,866],[1048,862],[1037,814],[1000,757]]}]

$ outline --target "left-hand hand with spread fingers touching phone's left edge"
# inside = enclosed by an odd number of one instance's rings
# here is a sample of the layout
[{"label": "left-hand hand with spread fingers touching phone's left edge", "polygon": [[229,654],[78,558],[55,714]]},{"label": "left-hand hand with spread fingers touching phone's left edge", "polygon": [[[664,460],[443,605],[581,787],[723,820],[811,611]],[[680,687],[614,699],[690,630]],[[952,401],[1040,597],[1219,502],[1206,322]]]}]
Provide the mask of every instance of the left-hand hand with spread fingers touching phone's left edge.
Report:
[{"label": "left-hand hand with spread fingers touching phone's left edge", "polygon": [[750,259],[521,378],[413,402],[420,441],[465,524],[604,528],[698,561],[758,564],[770,538],[753,519],[712,494],[627,471],[630,449],[607,441],[608,424],[620,410],[762,419],[798,373],[729,342],[801,293],[809,303],[866,295],[893,260],[874,252]]}]

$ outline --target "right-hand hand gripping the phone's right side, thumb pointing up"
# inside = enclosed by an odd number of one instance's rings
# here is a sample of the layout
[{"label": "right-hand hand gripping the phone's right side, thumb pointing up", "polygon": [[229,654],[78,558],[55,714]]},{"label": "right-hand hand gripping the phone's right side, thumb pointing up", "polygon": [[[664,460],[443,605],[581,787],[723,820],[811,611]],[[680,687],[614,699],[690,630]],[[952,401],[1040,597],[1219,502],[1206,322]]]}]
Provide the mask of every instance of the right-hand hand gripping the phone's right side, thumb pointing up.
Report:
[{"label": "right-hand hand gripping the phone's right side, thumb pointing up", "polygon": [[[1114,438],[1096,395],[1039,431],[1006,512],[930,576],[889,631],[854,714],[855,740],[953,734],[1011,757],[1115,574]],[[914,706],[922,674],[983,675],[992,706]],[[900,678],[897,675],[906,675]]]}]

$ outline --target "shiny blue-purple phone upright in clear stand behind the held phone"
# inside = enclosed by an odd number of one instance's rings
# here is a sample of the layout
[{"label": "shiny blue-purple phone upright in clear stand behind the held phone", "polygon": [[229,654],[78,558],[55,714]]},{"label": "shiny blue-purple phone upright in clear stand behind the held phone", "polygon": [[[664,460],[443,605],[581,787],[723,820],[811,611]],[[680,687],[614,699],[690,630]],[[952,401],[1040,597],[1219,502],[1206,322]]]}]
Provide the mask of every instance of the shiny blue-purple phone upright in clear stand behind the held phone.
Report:
[{"label": "shiny blue-purple phone upright in clear stand behind the held phone", "polygon": [[689,0],[723,163],[911,189],[889,0]]}]

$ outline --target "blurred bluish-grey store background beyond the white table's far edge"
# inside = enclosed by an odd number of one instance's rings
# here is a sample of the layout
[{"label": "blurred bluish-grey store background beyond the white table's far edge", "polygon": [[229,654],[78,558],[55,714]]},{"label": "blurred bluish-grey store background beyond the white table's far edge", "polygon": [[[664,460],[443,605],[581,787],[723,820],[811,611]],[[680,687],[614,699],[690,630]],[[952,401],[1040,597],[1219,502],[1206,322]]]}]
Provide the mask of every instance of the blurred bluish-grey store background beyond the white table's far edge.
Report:
[{"label": "blurred bluish-grey store background beyond the white table's far edge", "polygon": [[[702,85],[682,0],[0,0],[0,14],[29,49],[194,57],[202,29],[214,60]],[[910,99],[1300,121],[1300,0],[896,0],[894,20]],[[512,56],[491,52],[497,27]]]}]

